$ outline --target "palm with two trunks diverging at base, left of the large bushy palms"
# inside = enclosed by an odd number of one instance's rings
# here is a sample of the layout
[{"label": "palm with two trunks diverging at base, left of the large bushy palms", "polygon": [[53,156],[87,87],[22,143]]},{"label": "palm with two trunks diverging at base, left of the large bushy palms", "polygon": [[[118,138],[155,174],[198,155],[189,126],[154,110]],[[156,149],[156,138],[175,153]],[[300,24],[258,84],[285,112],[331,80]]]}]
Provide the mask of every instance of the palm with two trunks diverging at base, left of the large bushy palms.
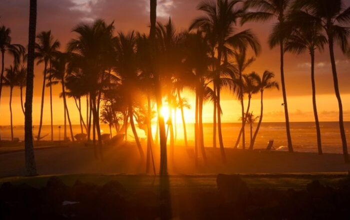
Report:
[{"label": "palm with two trunks diverging at base, left of the large bushy palms", "polygon": [[[73,130],[70,122],[69,111],[66,101],[66,92],[65,92],[65,79],[66,79],[66,66],[68,62],[69,54],[58,52],[55,57],[51,60],[51,68],[49,72],[49,86],[53,84],[60,83],[62,88],[61,97],[63,98],[63,112],[64,112],[64,128],[63,128],[63,137],[64,140],[67,140],[67,130],[66,130],[66,119],[68,119],[70,138],[74,141]],[[81,82],[79,83],[79,85]],[[81,89],[79,86],[75,87],[76,89]],[[81,113],[80,113],[81,115]]]}]

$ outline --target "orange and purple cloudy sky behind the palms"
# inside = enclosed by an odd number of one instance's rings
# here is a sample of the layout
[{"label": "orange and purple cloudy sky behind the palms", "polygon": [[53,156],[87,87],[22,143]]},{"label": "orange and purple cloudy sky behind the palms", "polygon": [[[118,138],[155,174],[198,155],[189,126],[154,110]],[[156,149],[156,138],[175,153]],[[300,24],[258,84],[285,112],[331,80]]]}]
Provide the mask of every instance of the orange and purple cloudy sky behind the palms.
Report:
[{"label": "orange and purple cloudy sky behind the palms", "polygon": [[[70,32],[72,27],[79,22],[89,22],[95,18],[105,19],[107,22],[114,20],[117,31],[148,31],[148,0],[38,0],[37,32],[52,30],[53,35],[59,39],[64,50],[65,43],[74,34]],[[165,21],[171,16],[178,29],[185,29],[190,21],[200,14],[195,7],[199,0],[158,0],[158,20]],[[350,2],[350,1],[349,1]],[[350,3],[348,4],[350,5]],[[28,29],[28,0],[1,0],[0,23],[11,28],[12,42],[27,44]],[[262,73],[265,69],[276,74],[279,81],[279,54],[278,49],[270,50],[266,44],[267,35],[271,23],[248,23],[242,28],[251,28],[255,31],[262,44],[262,54],[257,57],[256,62],[247,70]],[[6,66],[10,59],[6,57]],[[350,69],[349,59],[339,51],[336,52],[337,69],[339,76],[340,92],[342,95],[344,118],[350,120]],[[296,57],[287,54],[285,57],[285,78],[288,95],[288,105],[291,121],[312,121],[311,86],[309,74],[308,54]],[[35,67],[34,82],[34,114],[33,124],[38,124],[40,95],[42,85],[42,66]],[[331,69],[328,58],[328,50],[316,55],[316,90],[319,118],[321,121],[337,120],[337,103],[332,86]],[[58,94],[60,88],[57,86],[53,91],[54,123],[63,122],[62,100]],[[8,88],[4,88],[1,97],[0,124],[9,124],[8,111]],[[12,108],[14,109],[13,123],[23,124],[23,114],[20,110],[19,89],[14,91]],[[192,106],[194,106],[191,95],[185,92]],[[252,111],[257,115],[259,112],[259,96],[253,97]],[[256,99],[255,99],[256,98]],[[222,97],[223,122],[237,122],[240,107],[237,100],[225,92]],[[283,121],[282,97],[280,91],[266,92],[264,102],[264,121]],[[72,122],[78,123],[76,107],[72,100],[69,109],[73,114]],[[186,110],[188,120],[192,121],[193,108]],[[212,105],[204,107],[204,122],[211,122]],[[49,123],[49,99],[48,88],[46,88],[46,100],[44,106],[44,124]]]}]

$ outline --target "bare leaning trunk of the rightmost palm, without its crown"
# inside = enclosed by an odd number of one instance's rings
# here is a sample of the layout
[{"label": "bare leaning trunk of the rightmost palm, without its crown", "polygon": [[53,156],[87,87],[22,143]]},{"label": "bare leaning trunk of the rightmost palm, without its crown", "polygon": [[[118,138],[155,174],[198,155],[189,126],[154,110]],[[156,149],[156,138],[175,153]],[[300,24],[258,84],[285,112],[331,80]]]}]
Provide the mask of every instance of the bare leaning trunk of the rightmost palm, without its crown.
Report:
[{"label": "bare leaning trunk of the rightmost palm, without its crown", "polygon": [[348,164],[350,161],[349,161],[349,155],[347,153],[347,143],[346,143],[346,135],[345,135],[345,129],[344,129],[342,103],[341,103],[341,97],[339,92],[338,76],[336,73],[333,38],[331,36],[328,36],[328,44],[329,44],[330,63],[332,65],[334,90],[335,90],[336,99],[338,100],[338,107],[339,107],[339,129],[340,129],[340,136],[341,136],[341,142],[342,142],[342,153],[344,156],[345,163]]}]

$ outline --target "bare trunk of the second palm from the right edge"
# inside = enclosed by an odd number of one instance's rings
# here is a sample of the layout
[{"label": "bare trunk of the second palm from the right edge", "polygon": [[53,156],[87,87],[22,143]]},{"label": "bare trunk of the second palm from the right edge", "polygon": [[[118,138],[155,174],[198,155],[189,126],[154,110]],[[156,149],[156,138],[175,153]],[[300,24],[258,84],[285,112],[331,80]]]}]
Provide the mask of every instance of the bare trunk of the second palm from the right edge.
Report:
[{"label": "bare trunk of the second palm from the right edge", "polygon": [[317,115],[317,104],[316,104],[316,86],[315,86],[315,77],[314,77],[314,51],[310,51],[311,54],[311,84],[312,84],[312,106],[313,106],[313,115],[315,118],[315,124],[316,124],[316,134],[317,134],[317,149],[318,154],[322,155],[322,144],[321,144],[321,130],[319,128],[319,121],[318,121],[318,115]]}]

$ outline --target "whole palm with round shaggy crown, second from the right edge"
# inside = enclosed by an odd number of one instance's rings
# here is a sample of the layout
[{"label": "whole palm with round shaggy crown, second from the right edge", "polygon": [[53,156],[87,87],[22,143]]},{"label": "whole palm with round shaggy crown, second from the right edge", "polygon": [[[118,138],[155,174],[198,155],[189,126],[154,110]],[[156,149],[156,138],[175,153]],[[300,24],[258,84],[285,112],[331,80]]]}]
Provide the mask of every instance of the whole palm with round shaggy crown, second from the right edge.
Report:
[{"label": "whole palm with round shaggy crown, second from the right edge", "polygon": [[316,87],[315,87],[315,77],[314,77],[314,61],[315,61],[315,50],[323,50],[324,44],[327,43],[326,37],[321,33],[322,26],[319,25],[314,19],[307,21],[304,16],[298,18],[298,15],[294,14],[294,20],[291,21],[295,23],[295,28],[293,33],[289,36],[288,41],[285,45],[285,50],[293,52],[297,55],[308,51],[311,57],[311,85],[312,85],[312,105],[313,114],[316,124],[316,134],[317,134],[317,149],[318,154],[322,155],[322,144],[321,144],[321,131],[319,128],[319,121],[317,115],[316,106]]}]

